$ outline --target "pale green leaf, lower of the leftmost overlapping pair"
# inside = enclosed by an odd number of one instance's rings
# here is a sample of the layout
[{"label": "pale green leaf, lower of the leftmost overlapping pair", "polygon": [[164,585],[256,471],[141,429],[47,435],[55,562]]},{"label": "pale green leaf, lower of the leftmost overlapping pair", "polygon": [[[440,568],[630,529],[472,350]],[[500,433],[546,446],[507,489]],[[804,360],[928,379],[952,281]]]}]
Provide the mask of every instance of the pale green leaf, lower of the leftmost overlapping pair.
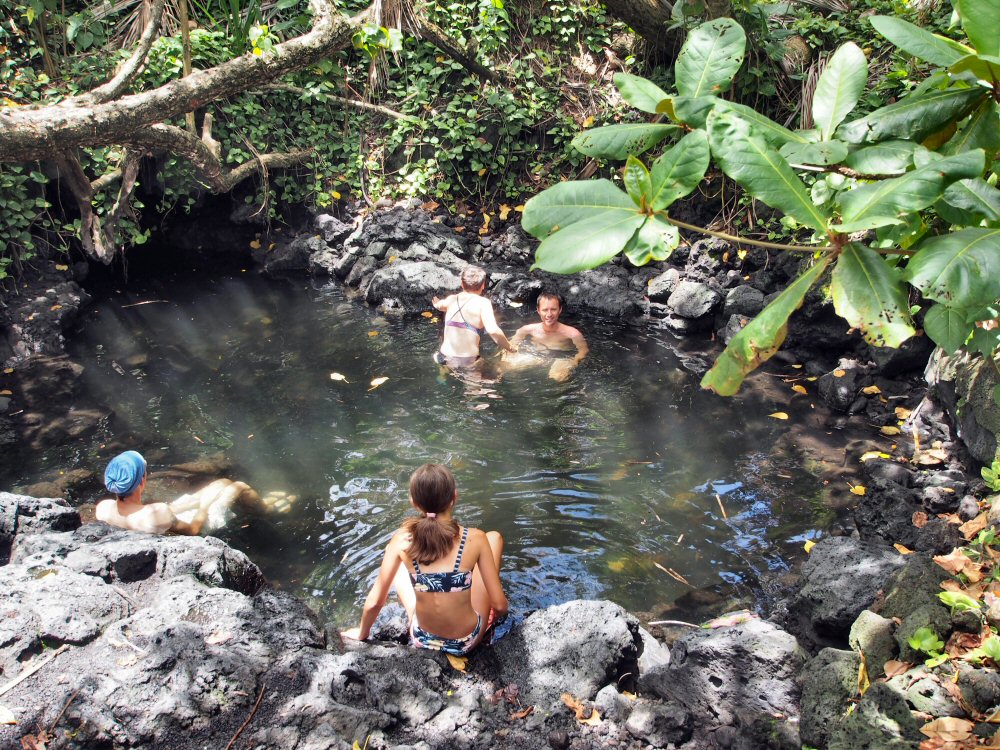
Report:
[{"label": "pale green leaf, lower of the leftmost overlapping pair", "polygon": [[557,229],[535,251],[532,268],[577,273],[607,263],[622,251],[646,217],[632,212],[599,211],[589,219]]}]

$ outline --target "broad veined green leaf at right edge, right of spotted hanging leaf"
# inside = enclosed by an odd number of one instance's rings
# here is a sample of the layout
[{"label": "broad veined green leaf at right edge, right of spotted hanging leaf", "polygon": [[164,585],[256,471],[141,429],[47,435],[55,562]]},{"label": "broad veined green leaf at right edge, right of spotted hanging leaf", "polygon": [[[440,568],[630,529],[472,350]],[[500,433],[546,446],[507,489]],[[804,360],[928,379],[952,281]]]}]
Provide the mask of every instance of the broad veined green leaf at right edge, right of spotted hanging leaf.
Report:
[{"label": "broad veined green leaf at right edge, right of spotted hanging leaf", "polygon": [[950,307],[994,302],[1000,298],[1000,229],[962,229],[924,240],[904,278]]}]

